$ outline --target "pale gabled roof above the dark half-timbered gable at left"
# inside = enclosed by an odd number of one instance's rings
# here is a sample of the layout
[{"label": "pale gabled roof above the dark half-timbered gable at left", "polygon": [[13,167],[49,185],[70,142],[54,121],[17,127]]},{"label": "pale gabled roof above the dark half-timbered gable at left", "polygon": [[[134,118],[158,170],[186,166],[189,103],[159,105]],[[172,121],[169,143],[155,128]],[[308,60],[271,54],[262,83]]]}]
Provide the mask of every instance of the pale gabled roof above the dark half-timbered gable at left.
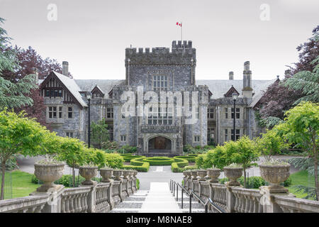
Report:
[{"label": "pale gabled roof above the dark half-timbered gable at left", "polygon": [[44,84],[46,84],[46,81],[49,80],[51,77],[56,77],[62,86],[65,87],[69,91],[69,93],[73,96],[75,99],[74,101],[77,101],[79,105],[82,107],[86,107],[86,102],[82,99],[82,95],[79,93],[81,92],[81,89],[77,85],[74,79],[71,79],[69,77],[66,77],[63,74],[60,74],[58,72],[52,71],[50,72],[49,76],[40,84],[40,89],[44,87]]}]

